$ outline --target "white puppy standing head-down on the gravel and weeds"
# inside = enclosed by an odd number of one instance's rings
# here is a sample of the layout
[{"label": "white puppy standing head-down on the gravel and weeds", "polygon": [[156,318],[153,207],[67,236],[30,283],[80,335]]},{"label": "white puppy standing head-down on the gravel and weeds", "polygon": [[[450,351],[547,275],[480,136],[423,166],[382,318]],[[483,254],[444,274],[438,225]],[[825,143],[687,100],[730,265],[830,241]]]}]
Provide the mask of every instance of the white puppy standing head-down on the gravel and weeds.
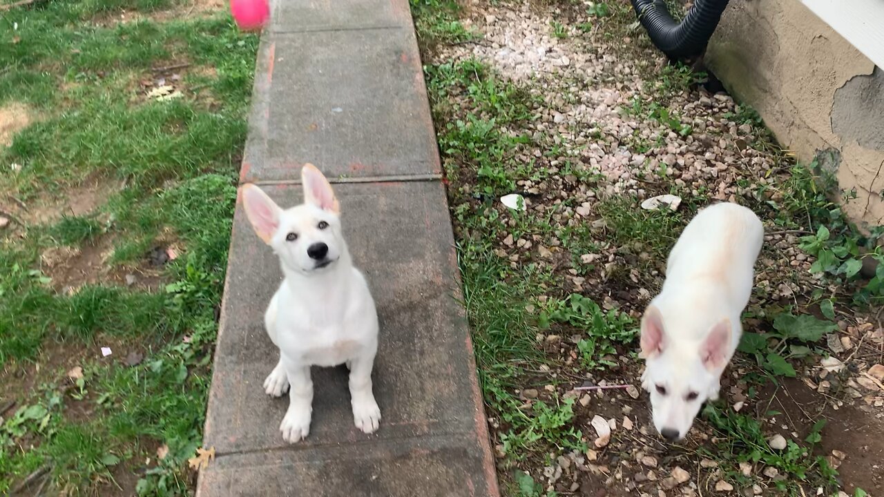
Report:
[{"label": "white puppy standing head-down on the gravel and weeds", "polygon": [[749,303],[764,226],[751,210],[718,203],[697,213],[675,242],[666,281],[642,317],[642,386],[654,426],[682,439],[700,406],[716,400]]}]

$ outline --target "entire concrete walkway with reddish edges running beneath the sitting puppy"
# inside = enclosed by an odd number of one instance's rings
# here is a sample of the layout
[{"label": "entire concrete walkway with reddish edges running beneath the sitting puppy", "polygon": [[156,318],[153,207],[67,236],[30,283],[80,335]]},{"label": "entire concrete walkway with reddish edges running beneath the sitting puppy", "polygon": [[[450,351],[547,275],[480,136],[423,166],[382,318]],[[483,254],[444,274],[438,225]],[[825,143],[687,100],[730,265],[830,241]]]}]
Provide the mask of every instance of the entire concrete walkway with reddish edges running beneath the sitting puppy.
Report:
[{"label": "entire concrete walkway with reddish edges running beneath the sitting puppy", "polygon": [[238,204],[197,495],[498,495],[408,0],[284,0],[272,19],[240,177],[284,207],[304,163],[335,183],[377,302],[383,418],[356,430],[346,370],[315,368],[309,438],[282,440],[288,399],[262,388],[281,274]]}]

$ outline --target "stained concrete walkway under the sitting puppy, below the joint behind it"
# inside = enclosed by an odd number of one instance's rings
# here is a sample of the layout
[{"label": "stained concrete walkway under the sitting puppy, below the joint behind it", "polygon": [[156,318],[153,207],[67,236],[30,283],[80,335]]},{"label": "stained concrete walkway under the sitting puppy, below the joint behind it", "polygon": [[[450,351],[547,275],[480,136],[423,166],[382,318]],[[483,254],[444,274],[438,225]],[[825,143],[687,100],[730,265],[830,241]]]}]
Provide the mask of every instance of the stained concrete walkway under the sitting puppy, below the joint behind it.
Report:
[{"label": "stained concrete walkway under the sitting puppy, below the joint behind it", "polygon": [[[297,186],[264,190],[283,206],[301,202]],[[381,428],[373,435],[354,428],[346,370],[315,368],[309,438],[293,446],[282,440],[287,397],[271,399],[262,388],[277,360],[263,310],[281,275],[238,206],[204,434],[218,456],[201,472],[198,494],[497,495],[469,330],[456,301],[444,187],[335,190],[354,263],[377,302]]]}]

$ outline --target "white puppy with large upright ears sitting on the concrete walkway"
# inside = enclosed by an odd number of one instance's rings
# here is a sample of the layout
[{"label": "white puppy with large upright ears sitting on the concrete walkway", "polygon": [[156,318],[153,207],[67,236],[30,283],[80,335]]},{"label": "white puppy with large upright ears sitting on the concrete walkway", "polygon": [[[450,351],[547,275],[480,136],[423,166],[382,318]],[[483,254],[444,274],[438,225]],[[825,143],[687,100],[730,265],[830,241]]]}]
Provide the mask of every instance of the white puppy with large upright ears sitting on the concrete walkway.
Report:
[{"label": "white puppy with large upright ears sitting on the concrete walkway", "polygon": [[362,432],[377,430],[381,417],[371,390],[377,353],[375,302],[350,259],[331,185],[311,164],[301,170],[301,180],[304,203],[287,210],[261,188],[242,187],[248,219],[279,257],[285,275],[264,314],[267,334],[279,348],[279,362],[263,386],[274,397],[289,390],[289,407],[279,430],[290,443],[310,431],[313,365],[347,363],[354,424]]}]

